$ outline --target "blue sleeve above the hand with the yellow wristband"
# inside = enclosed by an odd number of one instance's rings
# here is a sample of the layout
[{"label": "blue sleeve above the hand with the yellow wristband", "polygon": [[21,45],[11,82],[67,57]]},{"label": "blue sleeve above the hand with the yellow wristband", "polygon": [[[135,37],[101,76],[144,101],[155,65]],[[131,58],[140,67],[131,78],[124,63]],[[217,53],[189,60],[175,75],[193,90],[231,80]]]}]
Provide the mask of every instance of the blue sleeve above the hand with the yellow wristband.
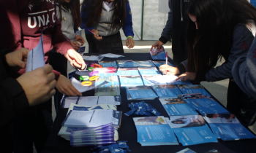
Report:
[{"label": "blue sleeve above the hand with the yellow wristband", "polygon": [[129,6],[129,3],[125,4],[125,10],[126,10],[126,18],[124,22],[123,31],[125,36],[134,36],[133,30],[132,30],[132,10]]}]

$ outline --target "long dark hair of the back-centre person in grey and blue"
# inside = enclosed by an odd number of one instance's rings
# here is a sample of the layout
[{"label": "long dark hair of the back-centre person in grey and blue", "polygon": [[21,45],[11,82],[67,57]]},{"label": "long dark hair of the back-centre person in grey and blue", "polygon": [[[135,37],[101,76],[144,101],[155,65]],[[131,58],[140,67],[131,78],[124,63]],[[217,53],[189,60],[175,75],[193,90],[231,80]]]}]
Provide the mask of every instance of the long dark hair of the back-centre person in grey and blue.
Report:
[{"label": "long dark hair of the back-centre person in grey and blue", "polygon": [[[89,20],[86,23],[87,27],[93,26],[99,20],[99,17],[103,9],[103,0],[84,0],[83,3],[89,1],[89,6],[86,6],[89,9]],[[113,16],[110,19],[112,26],[111,30],[117,30],[124,26],[126,19],[126,9],[125,4],[129,3],[128,0],[115,0],[113,3]]]}]

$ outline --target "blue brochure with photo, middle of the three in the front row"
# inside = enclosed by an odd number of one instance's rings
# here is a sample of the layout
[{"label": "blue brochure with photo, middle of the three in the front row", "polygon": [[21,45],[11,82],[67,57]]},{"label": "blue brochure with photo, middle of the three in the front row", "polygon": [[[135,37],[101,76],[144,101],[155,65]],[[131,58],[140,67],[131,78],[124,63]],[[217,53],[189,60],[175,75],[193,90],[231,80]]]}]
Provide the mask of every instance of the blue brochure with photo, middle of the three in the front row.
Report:
[{"label": "blue brochure with photo, middle of the three in the front row", "polygon": [[173,116],[166,120],[183,146],[217,142],[200,115]]}]

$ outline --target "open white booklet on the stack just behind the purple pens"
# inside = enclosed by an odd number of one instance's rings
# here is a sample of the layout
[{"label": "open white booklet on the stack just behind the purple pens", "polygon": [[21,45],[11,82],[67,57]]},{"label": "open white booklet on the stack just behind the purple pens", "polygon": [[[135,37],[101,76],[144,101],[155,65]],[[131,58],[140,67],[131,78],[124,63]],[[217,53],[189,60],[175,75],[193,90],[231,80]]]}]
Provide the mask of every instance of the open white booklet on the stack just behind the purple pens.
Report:
[{"label": "open white booklet on the stack just behind the purple pens", "polygon": [[93,110],[93,111],[69,111],[62,122],[66,127],[97,127],[113,123],[114,127],[120,127],[121,111]]}]

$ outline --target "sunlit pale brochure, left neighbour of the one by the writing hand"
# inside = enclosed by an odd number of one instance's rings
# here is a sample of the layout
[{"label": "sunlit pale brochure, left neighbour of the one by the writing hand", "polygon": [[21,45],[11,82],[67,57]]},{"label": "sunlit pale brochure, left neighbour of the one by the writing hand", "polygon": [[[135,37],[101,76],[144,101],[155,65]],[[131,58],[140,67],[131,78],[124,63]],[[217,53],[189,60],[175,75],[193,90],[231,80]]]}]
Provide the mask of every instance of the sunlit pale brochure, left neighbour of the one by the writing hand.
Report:
[{"label": "sunlit pale brochure, left neighbour of the one by the writing hand", "polygon": [[119,76],[121,87],[144,85],[140,76]]}]

